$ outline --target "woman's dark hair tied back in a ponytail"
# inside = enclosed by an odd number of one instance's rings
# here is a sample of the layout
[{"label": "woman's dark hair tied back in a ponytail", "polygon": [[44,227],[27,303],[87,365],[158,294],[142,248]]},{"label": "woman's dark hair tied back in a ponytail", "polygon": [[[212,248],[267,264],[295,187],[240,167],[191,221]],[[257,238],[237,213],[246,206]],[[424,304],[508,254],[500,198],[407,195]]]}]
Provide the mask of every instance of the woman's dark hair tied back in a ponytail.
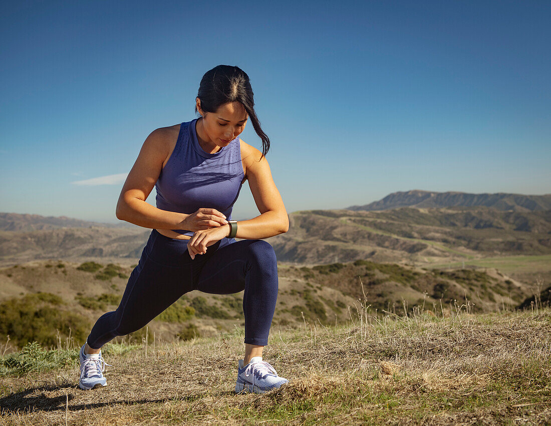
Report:
[{"label": "woman's dark hair tied back in a ponytail", "polygon": [[[219,65],[207,71],[201,79],[197,98],[201,100],[204,112],[216,112],[221,105],[228,102],[240,102],[252,121],[252,127],[262,139],[262,156],[270,149],[270,139],[262,131],[255,112],[252,87],[249,76],[239,67]],[[197,106],[195,107],[197,112]]]}]

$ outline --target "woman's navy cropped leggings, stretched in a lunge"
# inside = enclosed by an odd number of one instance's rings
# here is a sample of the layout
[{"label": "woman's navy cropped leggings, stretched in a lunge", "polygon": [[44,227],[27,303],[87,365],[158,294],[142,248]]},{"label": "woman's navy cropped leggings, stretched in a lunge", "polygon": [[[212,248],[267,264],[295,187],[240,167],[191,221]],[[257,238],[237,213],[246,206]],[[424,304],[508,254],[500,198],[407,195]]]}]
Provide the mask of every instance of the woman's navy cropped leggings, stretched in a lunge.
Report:
[{"label": "woman's navy cropped leggings, stretched in a lunge", "polygon": [[99,317],[88,346],[99,349],[116,336],[139,330],[191,290],[211,294],[245,290],[245,343],[268,344],[278,292],[272,246],[263,240],[223,238],[192,260],[187,240],[168,238],[153,229],[120,305]]}]

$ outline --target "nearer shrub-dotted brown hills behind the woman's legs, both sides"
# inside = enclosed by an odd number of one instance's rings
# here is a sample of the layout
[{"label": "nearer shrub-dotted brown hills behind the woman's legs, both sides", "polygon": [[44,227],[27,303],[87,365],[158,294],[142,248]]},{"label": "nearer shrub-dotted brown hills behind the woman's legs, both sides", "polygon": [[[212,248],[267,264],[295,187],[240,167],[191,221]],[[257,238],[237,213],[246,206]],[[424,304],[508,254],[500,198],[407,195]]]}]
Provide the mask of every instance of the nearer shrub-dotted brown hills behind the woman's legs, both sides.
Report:
[{"label": "nearer shrub-dotted brown hills behind the woman's legs, both sides", "polygon": [[[32,341],[55,346],[69,334],[83,341],[99,316],[116,309],[131,272],[131,267],[95,262],[33,261],[0,268],[0,347],[8,336],[14,349]],[[358,260],[312,268],[279,265],[278,274],[274,330],[304,321],[346,322],[348,306],[355,310],[360,299],[369,302],[374,315],[415,310],[449,314],[466,300],[472,312],[489,312],[512,309],[535,294],[495,269],[428,270]],[[40,319],[35,312],[41,312]],[[191,292],[151,322],[148,331],[172,341],[229,332],[243,324],[242,293]],[[145,333],[125,339],[141,342]]]}]

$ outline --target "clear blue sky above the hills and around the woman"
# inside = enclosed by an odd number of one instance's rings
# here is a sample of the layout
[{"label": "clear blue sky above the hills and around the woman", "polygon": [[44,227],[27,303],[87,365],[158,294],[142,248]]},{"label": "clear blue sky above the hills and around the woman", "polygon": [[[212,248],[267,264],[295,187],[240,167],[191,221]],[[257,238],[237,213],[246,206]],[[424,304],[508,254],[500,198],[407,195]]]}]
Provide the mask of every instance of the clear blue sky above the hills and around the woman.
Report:
[{"label": "clear blue sky above the hills and around the woman", "polygon": [[[289,213],[412,189],[551,193],[548,1],[1,8],[1,212],[117,222],[144,139],[196,117],[218,64],[251,78]],[[261,149],[252,125],[241,138]],[[257,214],[245,184],[234,218]]]}]

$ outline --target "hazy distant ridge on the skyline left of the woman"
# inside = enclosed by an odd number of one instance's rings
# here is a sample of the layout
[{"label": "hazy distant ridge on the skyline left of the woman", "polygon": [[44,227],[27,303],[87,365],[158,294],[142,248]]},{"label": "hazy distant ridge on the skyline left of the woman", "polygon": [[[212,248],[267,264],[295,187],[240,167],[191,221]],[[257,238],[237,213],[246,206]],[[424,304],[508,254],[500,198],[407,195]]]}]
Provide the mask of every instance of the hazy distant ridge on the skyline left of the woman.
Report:
[{"label": "hazy distant ridge on the skyline left of the woman", "polygon": [[98,223],[66,216],[41,216],[40,214],[0,213],[0,231],[42,231],[58,228],[128,228],[127,223]]}]

